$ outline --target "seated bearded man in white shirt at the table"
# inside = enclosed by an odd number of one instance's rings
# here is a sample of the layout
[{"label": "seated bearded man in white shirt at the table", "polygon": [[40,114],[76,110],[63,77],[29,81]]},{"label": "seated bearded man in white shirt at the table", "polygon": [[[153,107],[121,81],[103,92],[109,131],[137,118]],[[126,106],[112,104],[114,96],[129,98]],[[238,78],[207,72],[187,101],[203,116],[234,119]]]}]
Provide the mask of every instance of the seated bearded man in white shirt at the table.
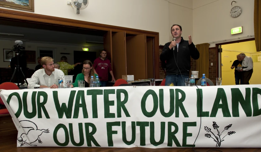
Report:
[{"label": "seated bearded man in white shirt at the table", "polygon": [[59,77],[64,80],[63,71],[55,69],[54,59],[48,56],[41,59],[41,65],[44,69],[39,69],[32,75],[28,84],[28,89],[32,89],[34,87],[58,88],[57,84]]}]

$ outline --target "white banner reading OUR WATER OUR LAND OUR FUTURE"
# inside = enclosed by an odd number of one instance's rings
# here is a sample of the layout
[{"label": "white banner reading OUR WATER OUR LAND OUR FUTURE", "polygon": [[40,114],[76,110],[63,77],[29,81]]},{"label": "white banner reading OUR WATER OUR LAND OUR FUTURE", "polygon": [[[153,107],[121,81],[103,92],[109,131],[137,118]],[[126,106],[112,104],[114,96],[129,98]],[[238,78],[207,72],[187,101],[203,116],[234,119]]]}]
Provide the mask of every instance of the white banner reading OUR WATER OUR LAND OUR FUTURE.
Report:
[{"label": "white banner reading OUR WATER OUR LAND OUR FUTURE", "polygon": [[0,96],[17,126],[18,147],[261,147],[261,85],[23,89]]}]

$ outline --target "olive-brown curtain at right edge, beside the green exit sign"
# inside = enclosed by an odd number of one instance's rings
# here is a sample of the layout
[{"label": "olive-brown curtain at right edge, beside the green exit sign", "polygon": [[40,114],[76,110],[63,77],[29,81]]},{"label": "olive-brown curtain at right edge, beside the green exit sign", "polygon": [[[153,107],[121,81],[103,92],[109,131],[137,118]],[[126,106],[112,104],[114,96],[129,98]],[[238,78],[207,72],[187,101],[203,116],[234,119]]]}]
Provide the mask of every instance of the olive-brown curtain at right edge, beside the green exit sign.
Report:
[{"label": "olive-brown curtain at right edge, beside the green exit sign", "polygon": [[256,51],[261,51],[261,0],[254,2],[254,33]]}]

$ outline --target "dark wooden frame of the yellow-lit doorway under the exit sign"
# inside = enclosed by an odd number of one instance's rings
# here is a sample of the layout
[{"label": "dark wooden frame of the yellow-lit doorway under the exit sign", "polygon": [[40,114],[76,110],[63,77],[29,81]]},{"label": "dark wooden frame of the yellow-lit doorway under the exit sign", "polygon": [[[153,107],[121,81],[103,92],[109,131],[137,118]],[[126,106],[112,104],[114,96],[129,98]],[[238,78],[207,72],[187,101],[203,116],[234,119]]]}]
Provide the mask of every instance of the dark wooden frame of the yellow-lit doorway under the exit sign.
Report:
[{"label": "dark wooden frame of the yellow-lit doorway under the exit sign", "polygon": [[[225,44],[233,44],[233,43],[246,42],[246,41],[251,41],[251,40],[255,40],[255,38],[235,40],[235,41],[223,42],[223,43],[217,43],[216,44],[216,65],[218,65],[217,68],[216,68],[216,77],[217,78],[219,77],[219,74],[220,74],[220,77],[222,77],[221,68],[220,68],[220,73],[219,73],[219,67],[221,67],[221,53],[222,52],[218,52],[218,50],[219,50],[218,46],[221,45],[221,48],[222,48],[222,45],[225,45]],[[218,59],[219,55],[220,55],[220,60]],[[219,63],[219,61],[220,61],[220,63]]]}]

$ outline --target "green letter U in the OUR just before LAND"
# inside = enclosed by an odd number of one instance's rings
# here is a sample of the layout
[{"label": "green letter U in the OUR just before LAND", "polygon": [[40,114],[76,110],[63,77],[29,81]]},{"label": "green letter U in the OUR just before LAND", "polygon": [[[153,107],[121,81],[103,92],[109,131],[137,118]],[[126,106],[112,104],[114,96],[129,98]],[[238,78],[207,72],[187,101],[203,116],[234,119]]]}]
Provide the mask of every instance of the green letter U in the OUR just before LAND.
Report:
[{"label": "green letter U in the OUR just before LAND", "polygon": [[166,113],[164,111],[164,93],[163,93],[163,89],[159,89],[159,111],[161,113],[162,116],[164,117],[170,117],[173,115],[174,113],[174,103],[175,103],[175,95],[174,95],[174,89],[169,89],[169,95],[170,95],[170,107],[169,107],[169,112]]}]

